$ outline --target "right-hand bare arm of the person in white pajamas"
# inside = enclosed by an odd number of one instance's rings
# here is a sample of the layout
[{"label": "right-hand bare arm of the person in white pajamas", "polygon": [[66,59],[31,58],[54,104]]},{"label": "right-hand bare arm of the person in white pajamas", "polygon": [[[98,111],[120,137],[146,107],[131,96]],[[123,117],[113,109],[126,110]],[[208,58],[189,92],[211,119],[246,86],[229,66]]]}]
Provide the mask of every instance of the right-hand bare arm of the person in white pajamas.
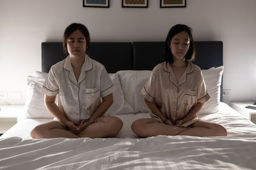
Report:
[{"label": "right-hand bare arm of the person in white pajamas", "polygon": [[[84,128],[86,128],[88,125],[93,124],[97,118],[102,117],[104,113],[108,110],[108,108],[113,104],[113,94],[109,94],[108,96],[102,97],[102,103],[100,103],[97,110],[92,114],[90,119],[85,122],[84,120],[81,122],[79,127],[79,131],[82,131]],[[78,131],[78,132],[79,132]]]}]

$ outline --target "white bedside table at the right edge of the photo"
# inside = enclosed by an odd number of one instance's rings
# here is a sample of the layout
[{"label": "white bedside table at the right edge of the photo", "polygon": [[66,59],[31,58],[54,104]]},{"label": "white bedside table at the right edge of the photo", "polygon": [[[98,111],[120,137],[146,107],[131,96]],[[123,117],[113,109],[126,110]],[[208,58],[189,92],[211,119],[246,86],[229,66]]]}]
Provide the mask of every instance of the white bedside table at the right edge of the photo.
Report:
[{"label": "white bedside table at the right edge of the photo", "polygon": [[248,118],[254,124],[256,124],[256,110],[245,108],[245,106],[255,106],[253,102],[233,102],[231,107],[234,108],[243,117]]}]

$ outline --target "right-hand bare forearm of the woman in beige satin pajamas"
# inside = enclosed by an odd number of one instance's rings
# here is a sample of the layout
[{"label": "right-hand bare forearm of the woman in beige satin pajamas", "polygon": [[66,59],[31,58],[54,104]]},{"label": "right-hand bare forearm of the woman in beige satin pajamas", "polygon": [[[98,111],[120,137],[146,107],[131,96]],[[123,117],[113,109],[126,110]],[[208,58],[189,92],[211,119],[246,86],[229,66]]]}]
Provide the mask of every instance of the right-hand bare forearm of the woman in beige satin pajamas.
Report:
[{"label": "right-hand bare forearm of the woman in beige satin pajamas", "polygon": [[192,118],[196,117],[196,114],[202,109],[203,106],[204,106],[204,102],[198,101],[194,106],[192,106],[188,115],[186,115],[185,118],[183,118],[182,120],[177,120],[176,125],[180,126],[180,125],[188,122]]}]

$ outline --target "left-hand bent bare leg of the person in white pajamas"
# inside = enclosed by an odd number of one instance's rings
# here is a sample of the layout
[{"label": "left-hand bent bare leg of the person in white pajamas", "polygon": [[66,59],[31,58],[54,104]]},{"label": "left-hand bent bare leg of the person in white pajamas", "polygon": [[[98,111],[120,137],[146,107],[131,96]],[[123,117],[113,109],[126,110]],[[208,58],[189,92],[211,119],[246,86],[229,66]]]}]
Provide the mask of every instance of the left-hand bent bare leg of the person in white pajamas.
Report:
[{"label": "left-hand bent bare leg of the person in white pajamas", "polygon": [[76,134],[67,131],[58,121],[46,122],[37,125],[31,132],[33,139],[40,138],[79,138]]}]

